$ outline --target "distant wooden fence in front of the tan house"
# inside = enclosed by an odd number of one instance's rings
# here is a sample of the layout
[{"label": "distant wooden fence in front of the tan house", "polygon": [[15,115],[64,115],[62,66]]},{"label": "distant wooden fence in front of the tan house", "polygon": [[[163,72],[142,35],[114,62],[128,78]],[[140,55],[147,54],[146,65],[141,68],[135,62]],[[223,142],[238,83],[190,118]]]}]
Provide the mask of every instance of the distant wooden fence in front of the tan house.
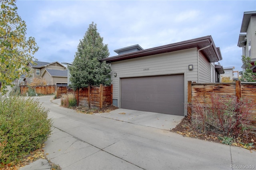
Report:
[{"label": "distant wooden fence in front of the tan house", "polygon": [[[28,92],[28,86],[20,86],[20,93],[21,95],[26,95]],[[36,87],[30,87],[35,90],[38,94],[43,95],[50,95],[55,92],[55,86],[36,86]]]}]

